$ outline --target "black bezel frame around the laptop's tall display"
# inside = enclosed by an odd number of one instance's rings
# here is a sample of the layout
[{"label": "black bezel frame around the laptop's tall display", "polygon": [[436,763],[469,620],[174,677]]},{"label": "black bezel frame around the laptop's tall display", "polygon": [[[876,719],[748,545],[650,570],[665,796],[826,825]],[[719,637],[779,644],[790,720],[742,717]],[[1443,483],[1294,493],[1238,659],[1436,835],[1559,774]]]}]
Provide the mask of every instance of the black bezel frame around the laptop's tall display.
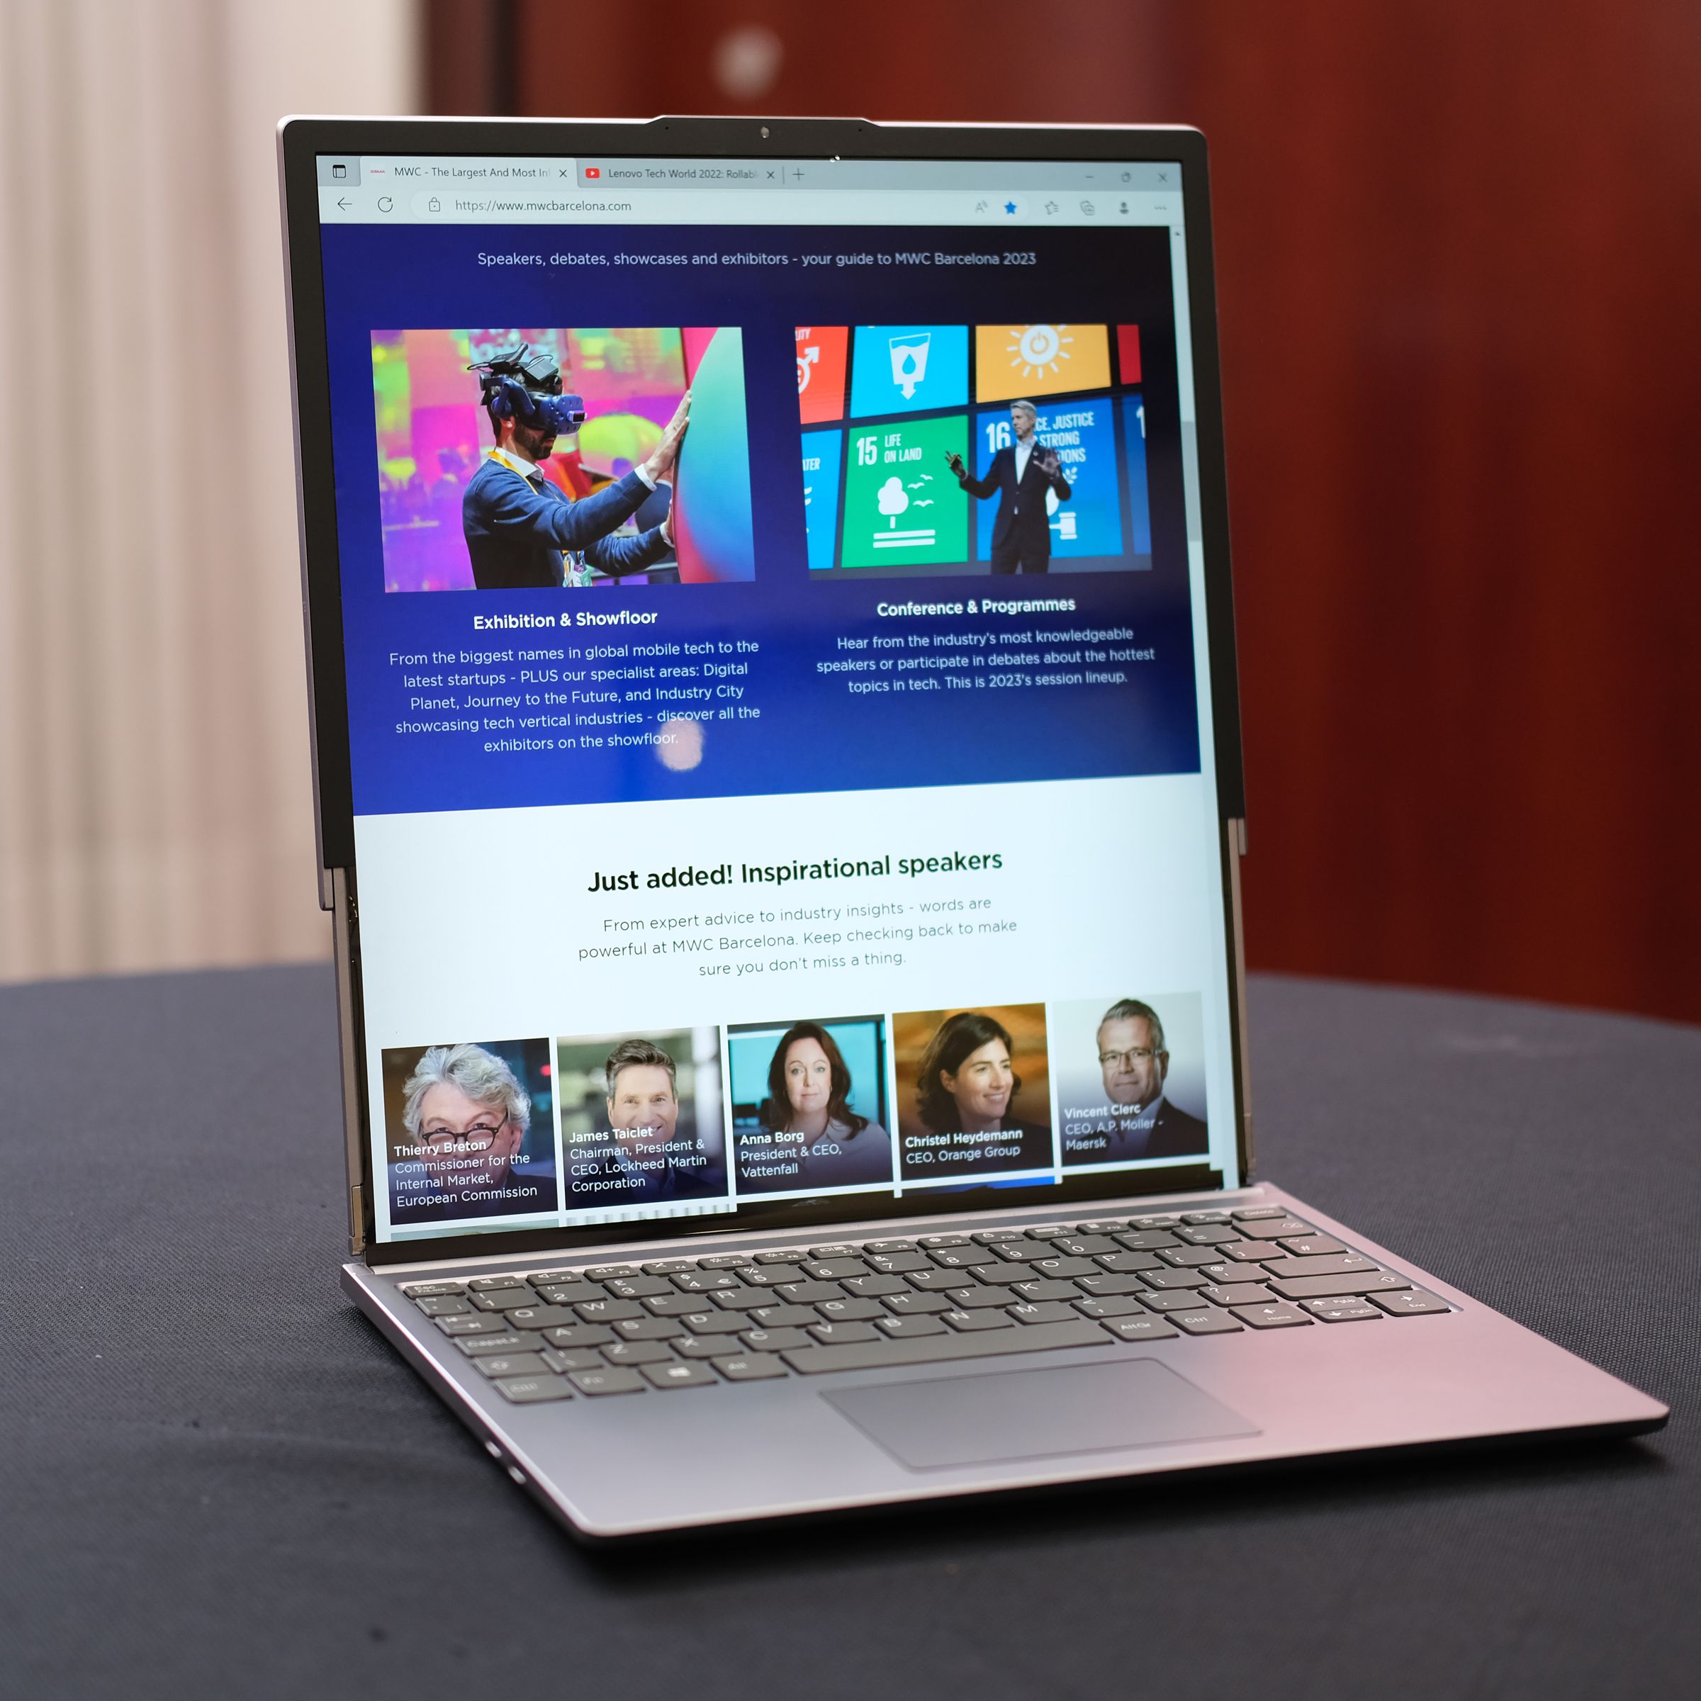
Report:
[{"label": "black bezel frame around the laptop's tall display", "polygon": [[[740,1203],[737,1213],[602,1223],[595,1228],[531,1228],[505,1233],[446,1233],[376,1242],[373,1220],[371,1114],[361,1017],[359,871],[354,852],[354,796],[349,754],[349,703],[344,665],[342,582],[330,429],[330,366],[325,335],[325,284],[320,247],[320,155],[560,155],[621,153],[653,158],[818,160],[1112,160],[1179,162],[1187,231],[1187,308],[1192,332],[1198,435],[1199,519],[1204,548],[1204,602],[1211,668],[1211,714],[1218,815],[1220,893],[1223,903],[1228,1000],[1235,1012],[1233,1119],[1240,1179],[1252,1167],[1243,988],[1238,961],[1238,856],[1245,818],[1238,677],[1235,667],[1233,587],[1228,556],[1228,500],[1216,338],[1216,291],[1204,136],[1184,126],[963,126],[876,124],[868,119],[660,117],[650,121],[572,119],[338,119],[296,117],[279,126],[279,174],[284,219],[286,299],[296,422],[298,527],[303,563],[303,617],[308,651],[313,801],[321,893],[333,910],[342,998],[345,1106],[350,1124],[352,1242],[373,1264],[418,1262],[468,1255],[594,1247],[634,1232],[657,1240],[726,1233],[815,1228],[869,1216],[939,1216],[953,1209],[985,1211],[1058,1206],[1126,1198],[1141,1191],[1201,1192],[1225,1177],[1206,1163],[1068,1177],[1060,1184],[1015,1189],[970,1187],[958,1194],[924,1191],[903,1198],[849,1194],[782,1203]],[[337,871],[335,879],[332,871]],[[335,896],[332,896],[335,893]],[[357,1165],[357,1169],[356,1169]]]}]

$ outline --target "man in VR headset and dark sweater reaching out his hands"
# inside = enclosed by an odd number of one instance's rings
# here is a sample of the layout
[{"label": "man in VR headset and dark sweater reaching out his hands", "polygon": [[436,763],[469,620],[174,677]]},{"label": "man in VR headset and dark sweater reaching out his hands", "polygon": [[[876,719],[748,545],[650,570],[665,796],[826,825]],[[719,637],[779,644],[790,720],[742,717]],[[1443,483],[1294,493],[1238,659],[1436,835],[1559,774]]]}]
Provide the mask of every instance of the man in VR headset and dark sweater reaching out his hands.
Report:
[{"label": "man in VR headset and dark sweater reaching out his hands", "polygon": [[672,510],[658,526],[616,536],[657,493],[679,454],[691,418],[687,390],[650,456],[614,483],[573,500],[544,476],[556,435],[585,422],[580,396],[563,395],[555,356],[521,342],[466,367],[478,374],[480,403],[495,444],[461,498],[461,526],[480,590],[589,585],[643,572],[674,549]]}]

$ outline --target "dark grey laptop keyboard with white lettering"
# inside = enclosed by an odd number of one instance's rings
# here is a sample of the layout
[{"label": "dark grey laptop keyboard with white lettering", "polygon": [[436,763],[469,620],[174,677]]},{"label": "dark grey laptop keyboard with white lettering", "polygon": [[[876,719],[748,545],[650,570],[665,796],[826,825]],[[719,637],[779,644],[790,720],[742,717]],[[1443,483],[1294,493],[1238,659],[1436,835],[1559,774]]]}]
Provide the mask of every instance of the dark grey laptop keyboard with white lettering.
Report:
[{"label": "dark grey laptop keyboard with white lettering", "polygon": [[1279,1206],[417,1281],[526,1405],[1451,1306]]}]

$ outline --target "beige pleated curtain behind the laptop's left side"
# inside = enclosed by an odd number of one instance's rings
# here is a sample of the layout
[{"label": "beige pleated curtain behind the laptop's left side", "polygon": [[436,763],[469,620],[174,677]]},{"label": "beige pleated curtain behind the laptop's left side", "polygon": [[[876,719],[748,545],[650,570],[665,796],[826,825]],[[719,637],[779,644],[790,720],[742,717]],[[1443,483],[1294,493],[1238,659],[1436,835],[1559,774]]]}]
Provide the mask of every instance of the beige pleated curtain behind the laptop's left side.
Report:
[{"label": "beige pleated curtain behind the laptop's left side", "polygon": [[412,0],[0,5],[0,978],[316,956],[274,126]]}]

